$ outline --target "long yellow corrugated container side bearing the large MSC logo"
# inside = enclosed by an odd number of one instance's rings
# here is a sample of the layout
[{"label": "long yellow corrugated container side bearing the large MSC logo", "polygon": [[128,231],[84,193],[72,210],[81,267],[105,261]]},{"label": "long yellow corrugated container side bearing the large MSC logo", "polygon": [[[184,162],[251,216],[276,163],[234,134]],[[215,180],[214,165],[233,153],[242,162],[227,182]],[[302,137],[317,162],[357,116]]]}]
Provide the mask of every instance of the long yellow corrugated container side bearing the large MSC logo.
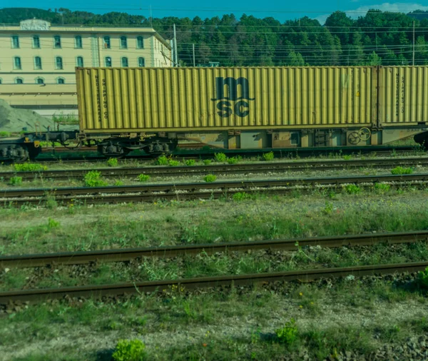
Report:
[{"label": "long yellow corrugated container side bearing the large MSC logo", "polygon": [[78,68],[86,132],[367,126],[377,68]]}]

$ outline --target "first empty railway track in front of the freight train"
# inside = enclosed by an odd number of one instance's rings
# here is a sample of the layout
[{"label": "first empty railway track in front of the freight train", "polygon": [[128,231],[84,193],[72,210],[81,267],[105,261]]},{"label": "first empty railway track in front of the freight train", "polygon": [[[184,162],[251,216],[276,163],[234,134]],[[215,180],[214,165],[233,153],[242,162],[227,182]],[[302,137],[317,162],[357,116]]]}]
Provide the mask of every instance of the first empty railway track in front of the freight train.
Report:
[{"label": "first empty railway track in front of the freight train", "polygon": [[[296,161],[296,162],[263,162],[241,164],[215,164],[210,166],[152,166],[133,168],[98,168],[104,177],[136,178],[139,174],[156,177],[200,176],[205,174],[243,174],[243,173],[278,173],[284,171],[327,171],[343,168],[391,168],[395,166],[428,166],[428,158],[389,158],[364,160],[329,160],[329,161]],[[39,172],[0,172],[0,178],[9,180],[19,176],[23,180],[71,179],[83,178],[94,169],[70,169]]]}]

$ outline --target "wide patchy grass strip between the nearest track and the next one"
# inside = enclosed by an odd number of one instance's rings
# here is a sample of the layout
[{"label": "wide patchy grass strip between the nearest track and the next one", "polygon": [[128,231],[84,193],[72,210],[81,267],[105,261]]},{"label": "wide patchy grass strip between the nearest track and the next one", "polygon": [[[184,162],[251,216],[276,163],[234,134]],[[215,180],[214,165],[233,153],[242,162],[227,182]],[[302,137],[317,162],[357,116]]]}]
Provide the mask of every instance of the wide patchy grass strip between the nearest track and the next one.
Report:
[{"label": "wide patchy grass strip between the nearest track and the next one", "polygon": [[295,193],[207,202],[3,208],[0,253],[424,230],[428,228],[426,195],[424,190],[376,190],[327,198]]}]

